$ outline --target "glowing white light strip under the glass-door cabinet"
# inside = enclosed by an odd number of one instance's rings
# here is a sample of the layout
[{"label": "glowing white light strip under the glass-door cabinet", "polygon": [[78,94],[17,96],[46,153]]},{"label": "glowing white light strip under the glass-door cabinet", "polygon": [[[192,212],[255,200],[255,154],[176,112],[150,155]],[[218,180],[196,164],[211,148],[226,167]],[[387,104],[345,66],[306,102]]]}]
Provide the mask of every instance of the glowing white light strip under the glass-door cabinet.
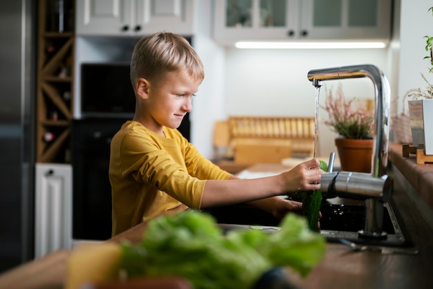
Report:
[{"label": "glowing white light strip under the glass-door cabinet", "polygon": [[347,49],[347,48],[385,48],[385,42],[265,42],[239,41],[236,48],[261,49]]}]

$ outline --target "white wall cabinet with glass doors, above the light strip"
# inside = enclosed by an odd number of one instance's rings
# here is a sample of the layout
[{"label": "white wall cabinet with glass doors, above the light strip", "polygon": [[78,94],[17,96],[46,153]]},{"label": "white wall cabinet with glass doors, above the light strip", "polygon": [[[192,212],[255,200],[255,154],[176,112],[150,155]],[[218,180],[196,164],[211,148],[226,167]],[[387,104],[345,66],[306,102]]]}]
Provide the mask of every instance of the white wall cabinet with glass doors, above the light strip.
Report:
[{"label": "white wall cabinet with glass doors, above the light strip", "polygon": [[388,39],[391,0],[217,0],[214,38]]}]

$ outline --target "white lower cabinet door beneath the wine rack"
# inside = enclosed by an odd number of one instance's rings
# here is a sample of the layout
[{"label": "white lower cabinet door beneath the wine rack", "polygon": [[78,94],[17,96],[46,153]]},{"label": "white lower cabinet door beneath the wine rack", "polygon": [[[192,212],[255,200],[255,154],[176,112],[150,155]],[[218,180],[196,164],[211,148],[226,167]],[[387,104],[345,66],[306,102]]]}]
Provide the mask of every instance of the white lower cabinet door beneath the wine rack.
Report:
[{"label": "white lower cabinet door beneath the wine rack", "polygon": [[72,166],[35,165],[35,258],[72,248]]}]

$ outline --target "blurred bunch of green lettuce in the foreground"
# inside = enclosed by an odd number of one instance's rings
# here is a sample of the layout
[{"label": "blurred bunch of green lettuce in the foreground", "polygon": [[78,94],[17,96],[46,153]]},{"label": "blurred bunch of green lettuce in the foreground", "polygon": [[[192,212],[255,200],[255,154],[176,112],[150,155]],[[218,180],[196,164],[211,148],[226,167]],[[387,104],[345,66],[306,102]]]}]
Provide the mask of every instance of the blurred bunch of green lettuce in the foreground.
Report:
[{"label": "blurred bunch of green lettuce in the foreground", "polygon": [[275,265],[305,276],[325,245],[300,216],[286,216],[272,234],[248,229],[223,235],[212,216],[190,211],[149,221],[140,245],[122,243],[121,268],[129,277],[185,277],[195,289],[252,288]]}]

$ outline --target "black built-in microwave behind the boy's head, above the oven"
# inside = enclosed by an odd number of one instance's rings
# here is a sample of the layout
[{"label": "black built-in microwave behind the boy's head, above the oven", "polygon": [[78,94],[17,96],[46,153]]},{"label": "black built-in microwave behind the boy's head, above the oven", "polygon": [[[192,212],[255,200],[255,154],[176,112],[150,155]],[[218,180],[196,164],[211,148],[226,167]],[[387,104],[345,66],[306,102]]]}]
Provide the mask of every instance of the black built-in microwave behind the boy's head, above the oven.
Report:
[{"label": "black built-in microwave behind the boy's head, above the oven", "polygon": [[82,118],[132,118],[136,98],[129,63],[83,63],[80,75]]}]

